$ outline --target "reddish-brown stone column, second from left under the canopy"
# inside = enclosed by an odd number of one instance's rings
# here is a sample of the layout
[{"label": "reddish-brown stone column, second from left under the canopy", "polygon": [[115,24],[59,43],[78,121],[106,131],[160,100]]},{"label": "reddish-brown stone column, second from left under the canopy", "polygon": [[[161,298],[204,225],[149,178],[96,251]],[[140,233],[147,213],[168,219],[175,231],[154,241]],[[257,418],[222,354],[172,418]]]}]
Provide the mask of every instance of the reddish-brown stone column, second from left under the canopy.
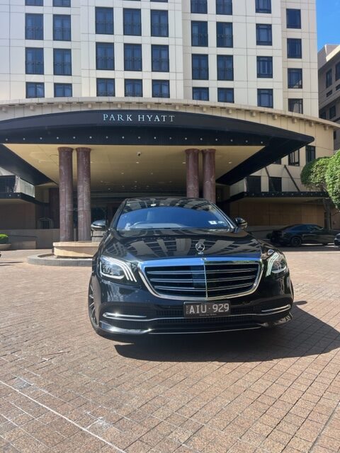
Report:
[{"label": "reddish-brown stone column, second from left under the canopy", "polygon": [[91,241],[91,148],[77,148],[78,241]]}]

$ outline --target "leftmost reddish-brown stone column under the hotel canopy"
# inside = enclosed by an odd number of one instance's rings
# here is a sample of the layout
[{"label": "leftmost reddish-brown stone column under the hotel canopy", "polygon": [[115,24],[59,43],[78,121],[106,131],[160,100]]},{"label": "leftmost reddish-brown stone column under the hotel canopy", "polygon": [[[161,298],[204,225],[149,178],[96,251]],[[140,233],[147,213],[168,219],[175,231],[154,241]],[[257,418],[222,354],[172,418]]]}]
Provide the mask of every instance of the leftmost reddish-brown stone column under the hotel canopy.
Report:
[{"label": "leftmost reddish-brown stone column under the hotel canopy", "polygon": [[73,148],[60,147],[59,151],[59,198],[60,242],[73,241]]}]

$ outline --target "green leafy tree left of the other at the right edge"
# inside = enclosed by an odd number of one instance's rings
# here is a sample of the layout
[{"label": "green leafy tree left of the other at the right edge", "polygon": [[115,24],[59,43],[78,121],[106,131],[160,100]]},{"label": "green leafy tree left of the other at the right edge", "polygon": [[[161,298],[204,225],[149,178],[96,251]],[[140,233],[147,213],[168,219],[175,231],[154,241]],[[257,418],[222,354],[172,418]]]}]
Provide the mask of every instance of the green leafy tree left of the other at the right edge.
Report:
[{"label": "green leafy tree left of the other at the right edge", "polygon": [[[319,157],[314,161],[308,162],[301,171],[301,182],[307,188],[328,192],[326,172],[329,166],[331,157]],[[326,212],[326,226],[331,228],[331,202],[329,197],[322,198],[324,210]]]}]

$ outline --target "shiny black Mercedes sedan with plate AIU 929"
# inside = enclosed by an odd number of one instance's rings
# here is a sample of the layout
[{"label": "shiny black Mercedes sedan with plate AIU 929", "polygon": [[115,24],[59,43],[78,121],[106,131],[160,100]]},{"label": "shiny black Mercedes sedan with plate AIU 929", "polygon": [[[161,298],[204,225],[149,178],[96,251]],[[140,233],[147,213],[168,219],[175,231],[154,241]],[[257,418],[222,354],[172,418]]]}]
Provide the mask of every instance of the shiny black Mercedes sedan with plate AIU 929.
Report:
[{"label": "shiny black Mercedes sedan with plate AIU 929", "polygon": [[[125,200],[94,256],[89,318],[102,336],[209,333],[290,321],[285,256],[198,198]],[[106,229],[105,222],[92,224]]]}]

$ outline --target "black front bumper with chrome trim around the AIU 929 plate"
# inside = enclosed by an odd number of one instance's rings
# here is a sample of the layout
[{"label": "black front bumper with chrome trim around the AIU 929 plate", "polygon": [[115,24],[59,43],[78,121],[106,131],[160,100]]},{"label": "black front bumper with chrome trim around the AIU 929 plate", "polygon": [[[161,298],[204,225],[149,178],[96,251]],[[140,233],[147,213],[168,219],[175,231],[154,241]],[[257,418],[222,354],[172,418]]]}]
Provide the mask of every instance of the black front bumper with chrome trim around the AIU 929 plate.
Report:
[{"label": "black front bumper with chrome trim around the AIU 929 plate", "polygon": [[94,273],[92,287],[98,326],[104,333],[155,335],[238,331],[290,321],[293,293],[289,274],[266,280],[252,294],[226,298],[230,304],[227,316],[186,318],[185,299],[161,299],[143,285],[121,285]]}]

